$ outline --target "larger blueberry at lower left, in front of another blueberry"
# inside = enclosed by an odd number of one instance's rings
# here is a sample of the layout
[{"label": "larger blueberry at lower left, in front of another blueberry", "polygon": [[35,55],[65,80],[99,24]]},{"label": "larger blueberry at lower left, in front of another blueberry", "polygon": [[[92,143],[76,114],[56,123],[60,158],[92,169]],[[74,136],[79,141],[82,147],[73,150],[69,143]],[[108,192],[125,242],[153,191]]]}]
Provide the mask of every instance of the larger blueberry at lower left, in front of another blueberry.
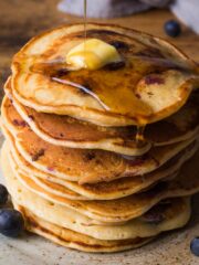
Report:
[{"label": "larger blueberry at lower left, in front of another blueberry", "polygon": [[12,209],[0,210],[0,233],[17,237],[24,227],[22,214]]}]

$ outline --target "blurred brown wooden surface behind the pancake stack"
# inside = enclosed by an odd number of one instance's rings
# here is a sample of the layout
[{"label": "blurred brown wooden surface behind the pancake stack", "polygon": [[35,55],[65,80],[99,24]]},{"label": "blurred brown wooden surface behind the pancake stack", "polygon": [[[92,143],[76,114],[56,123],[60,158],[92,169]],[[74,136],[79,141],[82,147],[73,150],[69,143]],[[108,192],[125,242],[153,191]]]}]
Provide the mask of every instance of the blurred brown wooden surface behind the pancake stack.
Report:
[{"label": "blurred brown wooden surface behind the pancake stack", "polygon": [[[56,9],[57,0],[0,0],[0,85],[10,74],[12,55],[33,35],[64,23],[83,21],[61,13]],[[182,49],[189,56],[199,61],[199,35],[184,26],[177,39],[165,35],[164,23],[174,18],[168,10],[151,10],[127,18],[100,20],[118,23],[164,36]],[[97,20],[90,20],[97,21]]]}]

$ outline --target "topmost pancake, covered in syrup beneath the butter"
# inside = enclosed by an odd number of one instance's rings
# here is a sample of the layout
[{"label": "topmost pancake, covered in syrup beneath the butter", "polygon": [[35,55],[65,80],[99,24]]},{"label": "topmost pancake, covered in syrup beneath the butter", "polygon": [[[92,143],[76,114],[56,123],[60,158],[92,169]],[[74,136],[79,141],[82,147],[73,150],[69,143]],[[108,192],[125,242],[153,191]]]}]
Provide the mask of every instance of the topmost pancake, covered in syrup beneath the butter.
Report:
[{"label": "topmost pancake, covered in syrup beneath the butter", "polygon": [[87,23],[86,34],[115,45],[124,63],[69,70],[65,56],[84,41],[84,24],[64,25],[32,39],[13,57],[14,97],[38,112],[140,126],[176,113],[197,87],[197,65],[164,40],[94,23]]}]

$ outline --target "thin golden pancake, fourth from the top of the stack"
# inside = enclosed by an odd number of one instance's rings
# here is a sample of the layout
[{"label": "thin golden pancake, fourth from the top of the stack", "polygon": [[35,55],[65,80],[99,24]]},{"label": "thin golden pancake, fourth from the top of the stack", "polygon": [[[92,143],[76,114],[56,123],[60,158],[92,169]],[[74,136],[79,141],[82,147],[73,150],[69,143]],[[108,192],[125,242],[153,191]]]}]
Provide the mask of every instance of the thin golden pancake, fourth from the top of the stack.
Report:
[{"label": "thin golden pancake, fourth from the top of the stack", "polygon": [[22,158],[22,156],[14,149],[14,146],[11,146],[10,150],[9,145],[6,142],[6,149],[10,151],[11,159],[19,173],[29,176],[34,182],[36,182],[36,184],[51,193],[72,200],[85,200],[85,198],[86,200],[113,200],[140,192],[160,180],[172,179],[176,177],[184,162],[193,156],[198,146],[187,148],[186,151],[178,153],[177,157],[168,161],[161,168],[151,173],[145,174],[142,178],[138,176],[134,178],[122,178],[111,182],[82,186],[74,181],[59,179],[35,169]]}]

